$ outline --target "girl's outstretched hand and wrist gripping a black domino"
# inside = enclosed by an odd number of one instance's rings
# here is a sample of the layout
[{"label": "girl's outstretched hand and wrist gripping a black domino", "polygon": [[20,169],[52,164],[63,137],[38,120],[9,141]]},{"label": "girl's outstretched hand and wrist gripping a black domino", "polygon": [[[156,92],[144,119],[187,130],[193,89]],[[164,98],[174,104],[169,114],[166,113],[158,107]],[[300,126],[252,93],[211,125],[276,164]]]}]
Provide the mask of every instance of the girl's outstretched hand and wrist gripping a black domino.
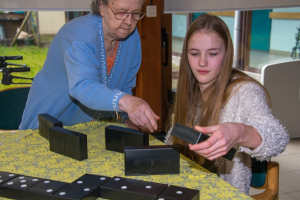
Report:
[{"label": "girl's outstretched hand and wrist gripping a black domino", "polygon": [[189,145],[190,150],[209,160],[227,154],[235,144],[255,149],[262,141],[254,127],[240,123],[223,123],[210,127],[195,126],[195,129],[204,134],[212,134],[204,142]]}]

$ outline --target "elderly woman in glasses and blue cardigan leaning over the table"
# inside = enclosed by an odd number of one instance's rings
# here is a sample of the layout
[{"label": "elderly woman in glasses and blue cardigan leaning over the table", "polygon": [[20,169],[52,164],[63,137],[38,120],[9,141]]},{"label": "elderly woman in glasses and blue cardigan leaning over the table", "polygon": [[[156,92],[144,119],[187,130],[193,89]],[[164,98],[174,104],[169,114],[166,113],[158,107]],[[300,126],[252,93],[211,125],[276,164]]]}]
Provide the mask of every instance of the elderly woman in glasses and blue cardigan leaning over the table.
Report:
[{"label": "elderly woman in glasses and blue cardigan leaning over the table", "polygon": [[92,13],[60,29],[32,83],[20,130],[37,128],[40,113],[72,125],[115,111],[129,128],[157,129],[159,117],[131,92],[141,63],[136,24],[145,15],[142,5],[143,0],[93,0]]}]

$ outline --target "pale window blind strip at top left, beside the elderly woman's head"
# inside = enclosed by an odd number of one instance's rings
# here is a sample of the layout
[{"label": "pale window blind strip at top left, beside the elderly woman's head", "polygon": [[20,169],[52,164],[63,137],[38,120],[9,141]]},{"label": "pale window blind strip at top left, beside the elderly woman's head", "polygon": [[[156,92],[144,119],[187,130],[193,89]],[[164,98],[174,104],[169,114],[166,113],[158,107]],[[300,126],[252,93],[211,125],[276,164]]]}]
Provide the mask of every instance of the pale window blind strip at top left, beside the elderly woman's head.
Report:
[{"label": "pale window blind strip at top left, beside the elderly woman's head", "polygon": [[91,0],[0,0],[1,11],[89,11]]}]

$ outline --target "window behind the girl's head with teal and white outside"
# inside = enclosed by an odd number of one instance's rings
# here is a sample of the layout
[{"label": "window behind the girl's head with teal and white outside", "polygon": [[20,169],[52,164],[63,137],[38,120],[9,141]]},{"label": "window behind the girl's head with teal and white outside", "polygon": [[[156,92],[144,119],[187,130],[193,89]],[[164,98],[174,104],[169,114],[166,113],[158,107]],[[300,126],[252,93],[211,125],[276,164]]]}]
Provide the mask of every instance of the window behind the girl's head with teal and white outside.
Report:
[{"label": "window behind the girl's head with teal and white outside", "polygon": [[[234,41],[235,12],[209,12],[227,24]],[[188,18],[194,20],[203,13],[172,15],[172,88],[177,87],[179,62]],[[261,69],[266,64],[300,59],[300,7],[248,11],[250,29],[247,45],[242,46],[245,58],[242,70],[260,81]],[[246,55],[247,54],[247,55]]]}]

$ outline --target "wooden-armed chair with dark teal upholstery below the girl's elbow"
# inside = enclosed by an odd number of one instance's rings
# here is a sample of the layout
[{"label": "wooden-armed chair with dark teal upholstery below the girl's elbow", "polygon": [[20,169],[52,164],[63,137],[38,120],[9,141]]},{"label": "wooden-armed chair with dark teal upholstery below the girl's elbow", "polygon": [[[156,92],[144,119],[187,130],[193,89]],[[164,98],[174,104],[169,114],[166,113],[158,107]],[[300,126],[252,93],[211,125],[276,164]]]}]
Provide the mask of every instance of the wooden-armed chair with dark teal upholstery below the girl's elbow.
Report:
[{"label": "wooden-armed chair with dark teal upholstery below the girl's elbow", "polygon": [[251,187],[265,189],[260,194],[251,195],[256,200],[278,200],[279,163],[276,161],[257,161],[252,158]]}]

